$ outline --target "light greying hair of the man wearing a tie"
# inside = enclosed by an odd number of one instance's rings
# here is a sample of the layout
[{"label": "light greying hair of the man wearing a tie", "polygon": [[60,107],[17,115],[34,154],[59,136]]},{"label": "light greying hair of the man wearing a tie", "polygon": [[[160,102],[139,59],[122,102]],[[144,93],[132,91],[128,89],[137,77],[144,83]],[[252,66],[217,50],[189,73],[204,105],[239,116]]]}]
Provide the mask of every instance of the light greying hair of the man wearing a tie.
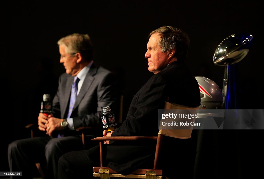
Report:
[{"label": "light greying hair of the man wearing a tie", "polygon": [[67,35],[58,41],[58,45],[62,44],[67,47],[65,48],[65,52],[72,57],[79,52],[87,61],[93,58],[93,44],[88,34],[74,33]]}]

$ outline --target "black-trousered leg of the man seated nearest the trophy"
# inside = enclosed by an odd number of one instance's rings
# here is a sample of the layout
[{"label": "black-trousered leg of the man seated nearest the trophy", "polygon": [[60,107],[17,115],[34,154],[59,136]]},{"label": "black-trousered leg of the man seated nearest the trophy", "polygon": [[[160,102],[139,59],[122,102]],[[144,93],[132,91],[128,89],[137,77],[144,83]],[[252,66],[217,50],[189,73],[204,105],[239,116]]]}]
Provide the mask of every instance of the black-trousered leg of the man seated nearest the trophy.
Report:
[{"label": "black-trousered leg of the man seated nearest the trophy", "polygon": [[64,154],[58,162],[58,179],[93,178],[93,167],[100,166],[99,145],[89,150]]}]

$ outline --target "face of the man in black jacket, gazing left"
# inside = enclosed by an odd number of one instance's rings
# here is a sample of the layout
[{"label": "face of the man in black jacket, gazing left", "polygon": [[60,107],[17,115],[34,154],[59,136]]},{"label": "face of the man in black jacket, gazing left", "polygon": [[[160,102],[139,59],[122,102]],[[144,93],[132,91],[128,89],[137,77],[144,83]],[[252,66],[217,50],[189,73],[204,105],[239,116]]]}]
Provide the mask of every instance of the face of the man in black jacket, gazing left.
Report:
[{"label": "face of the man in black jacket, gazing left", "polygon": [[159,73],[168,65],[168,55],[166,52],[161,52],[158,45],[159,38],[157,33],[150,36],[145,53],[145,58],[148,59],[148,70],[154,74]]}]

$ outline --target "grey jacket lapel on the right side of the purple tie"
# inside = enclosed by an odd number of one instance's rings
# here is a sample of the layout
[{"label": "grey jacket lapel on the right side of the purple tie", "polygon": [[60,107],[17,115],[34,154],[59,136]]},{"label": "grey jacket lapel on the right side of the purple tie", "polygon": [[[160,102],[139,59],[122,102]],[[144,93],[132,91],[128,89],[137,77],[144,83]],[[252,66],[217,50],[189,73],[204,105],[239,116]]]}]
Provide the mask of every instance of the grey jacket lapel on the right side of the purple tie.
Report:
[{"label": "grey jacket lapel on the right side of the purple tie", "polygon": [[76,101],[75,101],[75,104],[74,104],[74,107],[73,107],[73,111],[76,109],[76,107],[80,104],[83,96],[86,94],[87,90],[89,89],[90,85],[92,84],[92,81],[93,81],[93,75],[95,75],[97,72],[97,67],[96,65],[93,63],[92,66],[90,67],[84,81],[83,81],[83,84],[82,84],[82,88],[76,98]]}]

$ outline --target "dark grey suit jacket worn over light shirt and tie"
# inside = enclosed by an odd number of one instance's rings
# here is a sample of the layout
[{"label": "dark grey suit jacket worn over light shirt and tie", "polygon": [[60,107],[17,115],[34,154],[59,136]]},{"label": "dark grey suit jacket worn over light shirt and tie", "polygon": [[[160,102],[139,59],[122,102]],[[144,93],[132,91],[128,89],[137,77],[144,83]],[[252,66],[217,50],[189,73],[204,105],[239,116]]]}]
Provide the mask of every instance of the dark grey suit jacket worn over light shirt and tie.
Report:
[{"label": "dark grey suit jacket worn over light shirt and tie", "polygon": [[[69,100],[74,76],[66,73],[59,78],[58,91],[53,99],[54,117],[65,119],[68,114]],[[102,108],[117,108],[117,90],[114,74],[102,67],[91,65],[82,88],[76,98],[71,114],[74,128],[82,126],[101,126]]]}]

